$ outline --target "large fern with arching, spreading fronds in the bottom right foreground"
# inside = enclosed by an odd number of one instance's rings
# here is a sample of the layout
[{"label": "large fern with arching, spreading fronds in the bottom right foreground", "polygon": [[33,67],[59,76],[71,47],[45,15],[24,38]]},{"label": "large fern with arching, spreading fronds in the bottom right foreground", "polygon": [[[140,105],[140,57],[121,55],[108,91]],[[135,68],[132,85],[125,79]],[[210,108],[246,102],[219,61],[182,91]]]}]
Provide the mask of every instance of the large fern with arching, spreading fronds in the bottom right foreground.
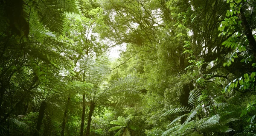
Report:
[{"label": "large fern with arching, spreading fronds in the bottom right foreground", "polygon": [[[205,117],[198,119],[196,116],[198,111],[201,111],[202,105],[198,104],[201,93],[198,89],[194,89],[190,92],[189,95],[189,104],[192,108],[181,107],[170,109],[166,111],[162,116],[169,116],[171,114],[176,114],[184,111],[190,111],[188,114],[183,114],[176,119],[174,119],[168,126],[171,126],[177,120],[180,120],[183,117],[186,117],[185,122],[182,125],[175,125],[172,128],[169,128],[163,133],[163,136],[201,136],[203,132],[229,132],[232,131],[232,128],[229,128],[226,124],[232,121],[237,120],[236,118],[227,117],[228,114],[233,112],[222,112],[220,114],[215,114],[212,117]],[[217,103],[218,107],[226,107],[227,103]]]}]

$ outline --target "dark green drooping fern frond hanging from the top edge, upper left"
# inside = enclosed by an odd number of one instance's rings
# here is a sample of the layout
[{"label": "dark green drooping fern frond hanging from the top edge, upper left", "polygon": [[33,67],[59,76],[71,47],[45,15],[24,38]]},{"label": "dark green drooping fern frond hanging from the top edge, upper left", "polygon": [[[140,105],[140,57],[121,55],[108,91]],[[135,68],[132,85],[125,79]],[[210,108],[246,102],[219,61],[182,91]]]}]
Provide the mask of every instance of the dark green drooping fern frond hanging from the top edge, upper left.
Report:
[{"label": "dark green drooping fern frond hanging from the top edge, upper left", "polygon": [[59,34],[64,31],[65,13],[80,14],[76,0],[31,0],[27,5],[32,10],[36,9],[31,12],[37,14],[38,20],[47,29]]}]

